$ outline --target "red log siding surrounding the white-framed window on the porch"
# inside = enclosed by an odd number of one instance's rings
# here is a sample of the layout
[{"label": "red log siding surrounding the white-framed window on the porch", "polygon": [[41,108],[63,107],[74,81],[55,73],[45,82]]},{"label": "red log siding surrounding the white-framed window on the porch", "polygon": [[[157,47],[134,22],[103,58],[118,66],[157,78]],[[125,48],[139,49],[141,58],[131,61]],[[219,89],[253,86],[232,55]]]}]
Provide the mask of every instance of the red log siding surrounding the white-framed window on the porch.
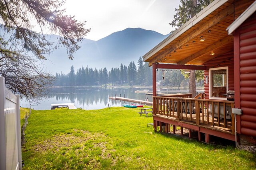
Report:
[{"label": "red log siding surrounding the white-framed window on the porch", "polygon": [[[228,66],[228,90],[234,90],[234,54],[226,54],[204,63],[208,68],[218,68]],[[209,82],[205,84],[205,76],[209,77],[209,70],[204,70],[204,93],[205,99],[209,99]]]}]

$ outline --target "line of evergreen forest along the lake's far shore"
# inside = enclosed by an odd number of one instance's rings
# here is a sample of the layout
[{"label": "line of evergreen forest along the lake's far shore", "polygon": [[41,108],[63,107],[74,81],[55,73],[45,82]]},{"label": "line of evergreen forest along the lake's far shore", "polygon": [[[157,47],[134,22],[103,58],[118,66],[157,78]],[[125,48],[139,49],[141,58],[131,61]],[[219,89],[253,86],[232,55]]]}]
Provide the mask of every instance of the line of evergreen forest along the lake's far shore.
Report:
[{"label": "line of evergreen forest along the lake's far shore", "polygon": [[[152,86],[152,67],[148,67],[148,63],[143,62],[142,57],[138,59],[137,65],[138,67],[134,61],[131,61],[128,66],[121,63],[119,67],[111,68],[111,70],[107,70],[106,67],[97,70],[97,68],[93,69],[88,66],[75,69],[74,66],[71,66],[68,74],[56,73],[55,86],[101,86],[106,84]],[[158,86],[188,86],[188,80],[184,78],[180,70],[157,70],[157,83]]]}]

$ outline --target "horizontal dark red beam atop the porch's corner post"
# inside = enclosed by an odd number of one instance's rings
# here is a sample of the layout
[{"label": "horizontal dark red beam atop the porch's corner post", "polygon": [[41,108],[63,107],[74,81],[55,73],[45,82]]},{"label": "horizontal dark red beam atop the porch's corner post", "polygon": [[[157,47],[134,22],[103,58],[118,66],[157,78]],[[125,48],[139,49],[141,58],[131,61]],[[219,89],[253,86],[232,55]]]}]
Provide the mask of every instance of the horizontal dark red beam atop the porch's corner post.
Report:
[{"label": "horizontal dark red beam atop the porch's corner post", "polygon": [[206,66],[197,66],[197,65],[180,65],[180,64],[160,64],[154,63],[154,68],[163,68],[163,69],[181,69],[181,70],[207,70]]}]

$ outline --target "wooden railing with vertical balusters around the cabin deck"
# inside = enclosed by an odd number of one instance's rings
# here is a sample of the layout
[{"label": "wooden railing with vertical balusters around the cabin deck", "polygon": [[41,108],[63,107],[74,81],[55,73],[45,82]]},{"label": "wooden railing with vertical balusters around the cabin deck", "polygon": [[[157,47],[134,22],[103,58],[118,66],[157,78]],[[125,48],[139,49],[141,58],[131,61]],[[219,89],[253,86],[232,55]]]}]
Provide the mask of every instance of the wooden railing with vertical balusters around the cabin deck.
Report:
[{"label": "wooden railing with vertical balusters around the cabin deck", "polygon": [[225,127],[234,134],[234,102],[187,98],[188,96],[189,94],[153,97],[153,114],[191,121],[196,125]]}]

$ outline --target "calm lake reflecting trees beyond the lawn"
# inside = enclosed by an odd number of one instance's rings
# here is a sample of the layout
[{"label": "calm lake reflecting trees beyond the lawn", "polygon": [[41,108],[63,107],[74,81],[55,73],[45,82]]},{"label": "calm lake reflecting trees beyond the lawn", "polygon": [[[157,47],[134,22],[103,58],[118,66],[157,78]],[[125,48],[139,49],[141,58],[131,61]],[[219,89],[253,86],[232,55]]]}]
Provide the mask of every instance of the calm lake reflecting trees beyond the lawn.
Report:
[{"label": "calm lake reflecting trees beyond the lawn", "polygon": [[[125,98],[132,98],[137,100],[148,100],[152,102],[151,95],[146,95],[146,93],[135,93],[136,90],[150,90],[149,88],[88,88],[88,87],[60,87],[51,88],[51,92],[48,94],[46,100],[42,101],[40,104],[32,104],[32,108],[35,110],[46,110],[51,109],[51,104],[60,103],[74,103],[76,108],[82,108],[86,110],[92,109],[102,109],[113,106],[122,106],[122,104],[127,104],[127,102],[120,100],[109,100],[108,95],[115,96],[116,94]],[[164,93],[176,94],[178,91],[175,89],[159,89],[164,90]],[[167,90],[167,91],[166,91]],[[29,102],[21,100],[21,107],[30,107]]]}]

